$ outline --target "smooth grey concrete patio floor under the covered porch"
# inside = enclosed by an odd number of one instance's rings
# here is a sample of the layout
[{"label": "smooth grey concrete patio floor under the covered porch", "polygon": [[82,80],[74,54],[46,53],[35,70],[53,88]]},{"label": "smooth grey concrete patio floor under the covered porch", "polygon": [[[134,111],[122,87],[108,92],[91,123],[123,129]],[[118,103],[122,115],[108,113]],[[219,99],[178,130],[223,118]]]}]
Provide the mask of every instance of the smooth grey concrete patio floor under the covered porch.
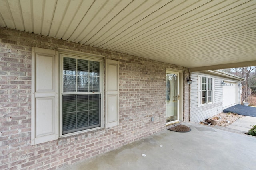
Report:
[{"label": "smooth grey concrete patio floor under the covered porch", "polygon": [[192,130],[164,130],[62,170],[255,169],[256,137],[196,123],[183,125]]}]

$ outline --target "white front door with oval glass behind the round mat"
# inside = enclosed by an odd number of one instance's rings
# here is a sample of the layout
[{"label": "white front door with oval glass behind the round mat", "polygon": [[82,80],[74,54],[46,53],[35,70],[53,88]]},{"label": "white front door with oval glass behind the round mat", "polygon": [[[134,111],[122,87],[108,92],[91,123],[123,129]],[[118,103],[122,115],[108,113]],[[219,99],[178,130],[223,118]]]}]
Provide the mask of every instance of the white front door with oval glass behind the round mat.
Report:
[{"label": "white front door with oval glass behind the round mat", "polygon": [[179,73],[166,71],[166,125],[179,121]]}]

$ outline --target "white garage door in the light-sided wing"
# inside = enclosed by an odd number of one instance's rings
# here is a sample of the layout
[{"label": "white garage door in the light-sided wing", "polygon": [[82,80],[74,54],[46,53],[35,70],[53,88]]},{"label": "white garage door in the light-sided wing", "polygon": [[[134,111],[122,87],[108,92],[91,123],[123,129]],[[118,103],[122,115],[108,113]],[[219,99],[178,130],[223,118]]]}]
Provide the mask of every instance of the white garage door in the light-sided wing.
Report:
[{"label": "white garage door in the light-sided wing", "polygon": [[225,82],[225,86],[223,88],[223,107],[230,106],[236,104],[236,86],[235,83]]}]

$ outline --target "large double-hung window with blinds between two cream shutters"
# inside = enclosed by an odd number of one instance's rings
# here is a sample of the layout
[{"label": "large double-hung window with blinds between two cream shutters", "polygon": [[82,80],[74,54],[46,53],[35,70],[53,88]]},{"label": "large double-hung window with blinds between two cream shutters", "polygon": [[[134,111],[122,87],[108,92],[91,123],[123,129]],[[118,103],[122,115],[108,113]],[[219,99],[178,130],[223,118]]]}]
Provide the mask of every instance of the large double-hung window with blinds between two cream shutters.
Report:
[{"label": "large double-hung window with blinds between two cream shutters", "polygon": [[62,134],[100,127],[100,61],[62,57]]}]

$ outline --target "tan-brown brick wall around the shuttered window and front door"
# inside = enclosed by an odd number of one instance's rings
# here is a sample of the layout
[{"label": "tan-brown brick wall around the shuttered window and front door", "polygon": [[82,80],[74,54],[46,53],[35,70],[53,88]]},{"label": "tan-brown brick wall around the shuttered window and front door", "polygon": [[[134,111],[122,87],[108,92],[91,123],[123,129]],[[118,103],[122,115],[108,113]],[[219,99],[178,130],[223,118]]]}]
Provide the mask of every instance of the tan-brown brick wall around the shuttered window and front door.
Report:
[{"label": "tan-brown brick wall around the shuttered window and front door", "polygon": [[[31,146],[31,47],[70,49],[120,61],[120,125]],[[165,70],[188,69],[0,27],[0,169],[56,169],[165,127]],[[189,86],[183,84],[189,120]],[[151,122],[151,117],[154,121]]]}]

